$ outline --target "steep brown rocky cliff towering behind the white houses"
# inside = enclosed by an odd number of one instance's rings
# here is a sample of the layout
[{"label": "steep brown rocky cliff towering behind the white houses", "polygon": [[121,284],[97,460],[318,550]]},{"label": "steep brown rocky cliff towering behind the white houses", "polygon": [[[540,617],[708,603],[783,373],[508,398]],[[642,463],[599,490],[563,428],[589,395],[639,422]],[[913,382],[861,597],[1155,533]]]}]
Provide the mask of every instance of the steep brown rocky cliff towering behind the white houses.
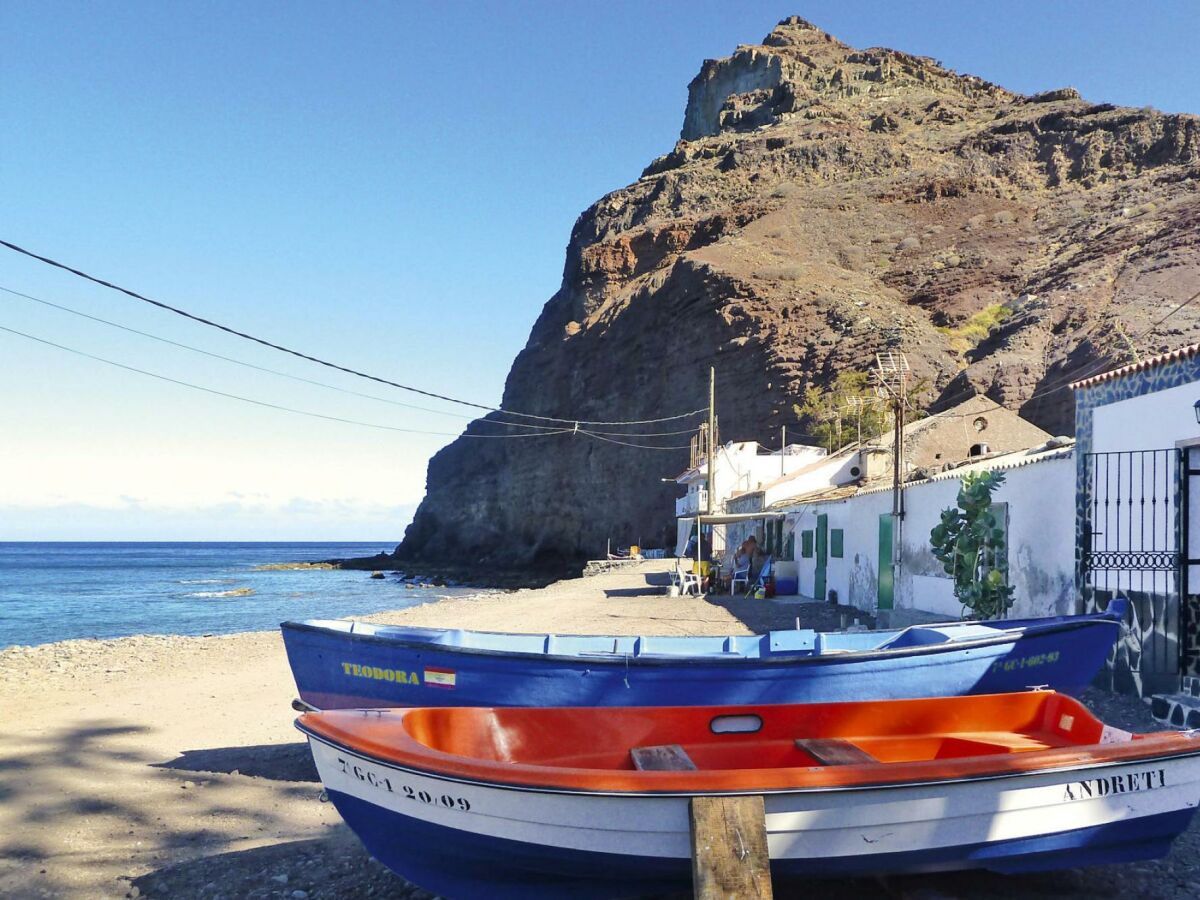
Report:
[{"label": "steep brown rocky cliff towering behind the white houses", "polygon": [[[1198,188],[1196,116],[1021,96],[787,19],[706,61],[674,149],[580,216],[503,406],[653,419],[703,406],[715,366],[722,438],[775,446],[806,385],[899,347],[935,408],[985,394],[1068,433],[1072,374],[1200,340],[1200,304],[1150,331],[1200,289]],[[686,462],[460,438],[398,553],[521,565],[650,542],[673,534],[659,479]]]}]

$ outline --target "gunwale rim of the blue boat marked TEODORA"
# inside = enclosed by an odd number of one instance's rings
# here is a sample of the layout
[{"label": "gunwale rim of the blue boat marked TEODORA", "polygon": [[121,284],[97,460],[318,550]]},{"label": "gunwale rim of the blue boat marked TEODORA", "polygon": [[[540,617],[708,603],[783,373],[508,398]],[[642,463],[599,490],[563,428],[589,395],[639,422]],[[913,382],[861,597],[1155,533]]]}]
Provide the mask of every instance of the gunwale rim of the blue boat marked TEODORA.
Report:
[{"label": "gunwale rim of the blue boat marked TEODORA", "polygon": [[[522,660],[553,660],[557,662],[575,662],[592,665],[611,665],[611,666],[679,666],[679,665],[718,665],[718,666],[737,666],[737,665],[763,665],[763,666],[793,666],[793,665],[828,665],[828,664],[847,664],[847,662],[869,662],[874,660],[887,660],[895,659],[898,656],[926,656],[935,655],[937,653],[948,653],[954,650],[966,650],[977,649],[982,647],[992,647],[1006,643],[1016,643],[1026,637],[1040,637],[1044,635],[1058,634],[1061,631],[1074,631],[1076,629],[1088,628],[1093,625],[1115,625],[1117,629],[1121,626],[1121,619],[1109,616],[1106,613],[1091,613],[1087,616],[1078,617],[1062,617],[1068,620],[1056,620],[1045,625],[1027,625],[1020,630],[1004,630],[996,635],[988,637],[978,637],[965,641],[947,640],[942,643],[931,644],[917,644],[913,647],[894,647],[889,649],[870,649],[870,650],[839,650],[834,653],[820,653],[800,655],[799,653],[781,652],[779,654],[772,654],[768,656],[743,656],[743,655],[704,655],[704,656],[689,656],[686,654],[662,654],[662,655],[637,655],[632,653],[612,653],[611,655],[604,654],[604,652],[596,655],[583,656],[580,654],[563,654],[563,653],[535,653],[529,650],[497,650],[485,647],[461,647],[452,644],[436,644],[427,643],[424,641],[415,641],[404,637],[385,637],[380,635],[368,635],[368,634],[355,634],[353,631],[338,631],[336,629],[328,628],[325,625],[312,625],[308,622],[282,622],[280,623],[280,630],[286,635],[290,629],[293,631],[304,631],[318,635],[331,635],[337,638],[348,638],[353,642],[362,643],[378,643],[389,647],[403,647],[406,649],[426,650],[426,652],[443,652],[448,654],[462,654],[472,656],[500,656],[504,659],[522,659]],[[947,623],[954,624],[954,623]],[[425,629],[427,631],[452,631],[456,629]],[[490,634],[490,635],[504,635],[509,632],[504,631],[479,631],[475,634]],[[536,636],[535,632],[530,632]],[[653,636],[653,635],[652,635]],[[667,637],[668,635],[662,635]],[[755,635],[737,635],[738,637],[755,637]],[[758,635],[762,637],[763,635]],[[572,637],[610,637],[610,635],[572,635]],[[640,635],[614,635],[614,637],[640,637]],[[674,635],[670,635],[674,637]]]}]

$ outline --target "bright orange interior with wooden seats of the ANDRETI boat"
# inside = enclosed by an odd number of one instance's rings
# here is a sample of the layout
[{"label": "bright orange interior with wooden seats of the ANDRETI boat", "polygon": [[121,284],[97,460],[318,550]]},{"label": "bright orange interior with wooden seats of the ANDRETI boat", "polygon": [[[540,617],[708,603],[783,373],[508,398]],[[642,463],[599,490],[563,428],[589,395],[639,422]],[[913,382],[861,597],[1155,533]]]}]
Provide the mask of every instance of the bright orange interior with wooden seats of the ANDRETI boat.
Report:
[{"label": "bright orange interior with wooden seats of the ANDRETI boat", "polygon": [[317,731],[384,760],[449,755],[607,772],[878,768],[1086,746],[1102,736],[1133,738],[1054,691],[736,708],[422,708],[319,715],[325,721]]}]

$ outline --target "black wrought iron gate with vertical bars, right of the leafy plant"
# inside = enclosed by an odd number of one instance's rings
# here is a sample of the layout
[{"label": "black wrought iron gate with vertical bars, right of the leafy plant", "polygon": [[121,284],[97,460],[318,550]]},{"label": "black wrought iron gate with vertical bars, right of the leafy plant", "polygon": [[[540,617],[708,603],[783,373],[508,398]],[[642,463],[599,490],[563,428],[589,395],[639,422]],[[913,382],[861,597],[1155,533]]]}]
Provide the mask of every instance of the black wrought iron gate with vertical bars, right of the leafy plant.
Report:
[{"label": "black wrought iron gate with vertical bars, right of the leafy plant", "polygon": [[1132,625],[1109,658],[1109,686],[1139,696],[1178,690],[1188,509],[1182,454],[1123,450],[1084,460],[1084,601],[1096,608],[1128,596],[1133,608]]}]

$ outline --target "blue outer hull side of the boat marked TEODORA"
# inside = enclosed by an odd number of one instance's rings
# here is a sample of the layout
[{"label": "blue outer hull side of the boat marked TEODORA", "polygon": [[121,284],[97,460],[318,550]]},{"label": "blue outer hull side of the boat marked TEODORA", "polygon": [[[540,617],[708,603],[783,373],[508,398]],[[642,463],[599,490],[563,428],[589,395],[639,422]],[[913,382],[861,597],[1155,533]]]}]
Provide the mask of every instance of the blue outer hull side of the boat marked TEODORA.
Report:
[{"label": "blue outer hull side of the boat marked TEODORA", "polygon": [[1080,617],[990,641],[768,659],[480,652],[294,623],[284,623],[283,640],[300,697],[318,709],[644,707],[937,697],[1033,685],[1078,692],[1118,630],[1115,619]]}]

